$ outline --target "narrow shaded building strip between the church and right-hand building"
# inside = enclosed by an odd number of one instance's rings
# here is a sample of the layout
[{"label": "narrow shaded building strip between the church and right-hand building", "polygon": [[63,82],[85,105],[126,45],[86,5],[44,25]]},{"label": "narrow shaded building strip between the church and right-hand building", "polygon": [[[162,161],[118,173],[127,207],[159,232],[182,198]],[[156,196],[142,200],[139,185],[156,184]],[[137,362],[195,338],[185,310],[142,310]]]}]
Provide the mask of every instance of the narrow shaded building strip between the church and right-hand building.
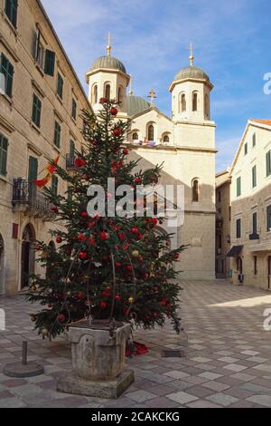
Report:
[{"label": "narrow shaded building strip between the church and right-hand building", "polygon": [[229,170],[216,175],[216,276],[229,278],[230,261],[227,257],[230,249],[230,178]]}]

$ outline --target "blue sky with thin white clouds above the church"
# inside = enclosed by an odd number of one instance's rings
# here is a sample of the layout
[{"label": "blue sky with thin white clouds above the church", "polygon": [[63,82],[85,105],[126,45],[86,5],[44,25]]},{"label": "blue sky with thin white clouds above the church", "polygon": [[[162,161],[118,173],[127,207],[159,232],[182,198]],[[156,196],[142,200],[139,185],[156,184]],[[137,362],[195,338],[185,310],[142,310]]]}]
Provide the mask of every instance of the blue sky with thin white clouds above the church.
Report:
[{"label": "blue sky with thin white clouds above the church", "polygon": [[[271,119],[270,0],[42,0],[80,81],[91,63],[112,55],[135,77],[138,96],[157,92],[156,105],[171,114],[170,83],[189,64],[210,75],[212,119],[217,121],[217,170],[233,160],[248,118]],[[86,87],[87,90],[87,87]]]}]

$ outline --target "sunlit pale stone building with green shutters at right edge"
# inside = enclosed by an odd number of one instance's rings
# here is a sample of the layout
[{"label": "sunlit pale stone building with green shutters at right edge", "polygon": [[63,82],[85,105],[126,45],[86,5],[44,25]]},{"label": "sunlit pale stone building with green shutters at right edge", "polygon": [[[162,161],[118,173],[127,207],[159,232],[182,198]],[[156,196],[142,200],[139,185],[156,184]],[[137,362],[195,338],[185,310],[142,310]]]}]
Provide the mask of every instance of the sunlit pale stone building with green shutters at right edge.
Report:
[{"label": "sunlit pale stone building with green shutters at right edge", "polygon": [[230,176],[232,282],[270,290],[271,121],[248,121]]}]

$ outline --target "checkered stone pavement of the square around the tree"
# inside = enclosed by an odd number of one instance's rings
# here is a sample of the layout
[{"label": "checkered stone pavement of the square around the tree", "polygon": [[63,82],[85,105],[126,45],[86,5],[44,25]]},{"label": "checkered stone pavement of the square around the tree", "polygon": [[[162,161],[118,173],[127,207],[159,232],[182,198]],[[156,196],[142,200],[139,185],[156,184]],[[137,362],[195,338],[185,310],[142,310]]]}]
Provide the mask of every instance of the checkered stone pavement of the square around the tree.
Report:
[{"label": "checkered stone pavement of the square around the tree", "polygon": [[[7,328],[0,332],[0,372],[20,360],[23,340],[29,360],[45,367],[45,374],[30,379],[0,373],[0,407],[271,407],[271,331],[263,328],[271,294],[220,280],[182,286],[186,334],[177,336],[170,324],[136,332],[150,353],[127,360],[135,383],[117,401],[56,392],[58,377],[71,368],[69,344],[42,341],[33,332],[28,314],[35,306],[22,296],[0,297]],[[162,358],[163,349],[175,348],[184,357]]]}]

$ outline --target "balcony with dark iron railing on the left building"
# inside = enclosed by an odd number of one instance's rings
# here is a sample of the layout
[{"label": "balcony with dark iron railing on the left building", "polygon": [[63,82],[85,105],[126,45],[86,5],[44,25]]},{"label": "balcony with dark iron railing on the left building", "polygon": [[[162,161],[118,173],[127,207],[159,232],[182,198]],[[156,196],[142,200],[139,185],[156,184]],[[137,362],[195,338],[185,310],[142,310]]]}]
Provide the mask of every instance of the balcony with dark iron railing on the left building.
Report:
[{"label": "balcony with dark iron railing on the left building", "polygon": [[13,190],[14,211],[22,211],[33,218],[51,221],[55,215],[51,211],[51,204],[45,198],[42,189],[38,189],[27,179],[14,179]]}]

